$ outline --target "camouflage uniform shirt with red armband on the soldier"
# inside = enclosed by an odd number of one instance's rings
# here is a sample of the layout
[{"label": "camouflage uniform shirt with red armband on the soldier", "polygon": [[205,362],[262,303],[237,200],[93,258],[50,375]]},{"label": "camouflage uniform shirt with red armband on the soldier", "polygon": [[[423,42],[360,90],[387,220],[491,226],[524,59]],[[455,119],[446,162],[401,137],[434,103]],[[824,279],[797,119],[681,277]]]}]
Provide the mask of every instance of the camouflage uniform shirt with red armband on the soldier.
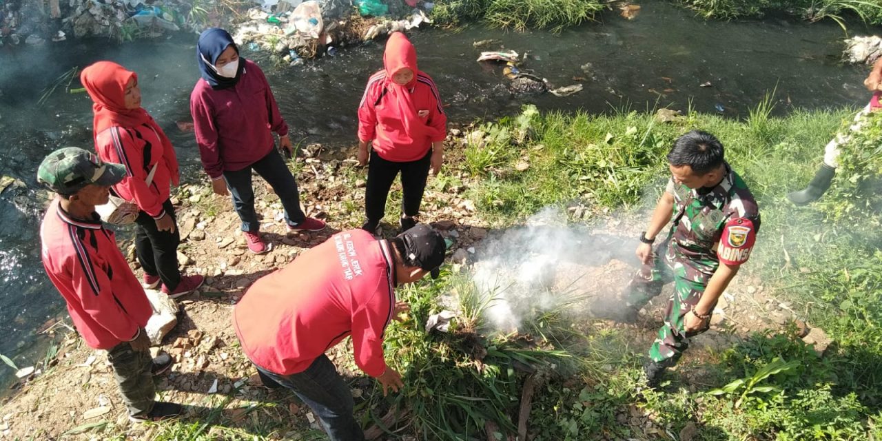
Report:
[{"label": "camouflage uniform shirt with red armband on the soldier", "polygon": [[[713,188],[692,190],[683,184],[668,182],[665,191],[674,196],[669,232],[668,260],[691,266],[710,275],[720,263],[715,245],[721,239],[729,245],[752,247],[759,230],[759,207],[741,176],[724,163],[726,175]],[[752,228],[733,225],[751,225]],[[725,237],[724,237],[725,234]],[[744,263],[751,248],[738,258],[724,259],[727,263]],[[675,265],[676,265],[675,263]]]}]

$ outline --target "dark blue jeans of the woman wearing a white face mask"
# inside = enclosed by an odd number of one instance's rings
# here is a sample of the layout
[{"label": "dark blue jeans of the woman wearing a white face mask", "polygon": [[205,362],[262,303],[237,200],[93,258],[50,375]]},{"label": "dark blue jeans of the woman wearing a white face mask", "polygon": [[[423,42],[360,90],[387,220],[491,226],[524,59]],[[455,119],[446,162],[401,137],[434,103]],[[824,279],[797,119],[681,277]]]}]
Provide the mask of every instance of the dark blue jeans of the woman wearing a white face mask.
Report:
[{"label": "dark blue jeans of the woman wearing a white face mask", "polygon": [[242,220],[242,230],[257,233],[260,231],[258,214],[254,212],[254,189],[251,188],[251,169],[258,172],[266,183],[273,187],[273,191],[279,196],[281,206],[285,208],[285,221],[288,225],[295,226],[306,219],[306,214],[300,209],[300,192],[297,191],[297,183],[291,170],[281,159],[279,151],[273,148],[269,154],[259,161],[241,170],[224,171],[223,177],[227,181],[227,188],[233,195],[235,213]]}]

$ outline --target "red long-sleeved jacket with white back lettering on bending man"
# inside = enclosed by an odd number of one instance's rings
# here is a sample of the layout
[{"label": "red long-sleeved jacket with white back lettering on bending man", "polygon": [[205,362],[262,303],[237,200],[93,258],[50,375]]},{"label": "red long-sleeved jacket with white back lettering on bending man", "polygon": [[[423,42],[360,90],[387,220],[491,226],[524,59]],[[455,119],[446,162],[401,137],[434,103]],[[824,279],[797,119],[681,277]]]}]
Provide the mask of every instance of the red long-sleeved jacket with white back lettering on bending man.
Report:
[{"label": "red long-sleeved jacket with white back lettering on bending man", "polygon": [[351,335],[355,363],[377,377],[394,279],[386,241],[343,231],[254,282],[233,311],[235,333],[252,362],[280,375],[306,370]]}]

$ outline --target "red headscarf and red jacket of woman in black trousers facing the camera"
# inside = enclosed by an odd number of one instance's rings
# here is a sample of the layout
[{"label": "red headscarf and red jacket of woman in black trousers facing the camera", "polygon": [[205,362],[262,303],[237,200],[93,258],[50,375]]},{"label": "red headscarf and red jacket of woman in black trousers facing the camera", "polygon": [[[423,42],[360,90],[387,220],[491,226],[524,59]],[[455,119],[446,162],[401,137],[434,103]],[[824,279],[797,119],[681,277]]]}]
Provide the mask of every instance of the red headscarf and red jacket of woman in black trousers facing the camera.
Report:
[{"label": "red headscarf and red jacket of woman in black trousers facing the camera", "polygon": [[[447,135],[447,116],[435,82],[416,68],[414,45],[401,33],[392,33],[383,55],[384,70],[373,74],[358,105],[358,138],[373,141],[386,161],[421,159],[432,142]],[[415,73],[407,85],[392,82],[402,69]]]}]

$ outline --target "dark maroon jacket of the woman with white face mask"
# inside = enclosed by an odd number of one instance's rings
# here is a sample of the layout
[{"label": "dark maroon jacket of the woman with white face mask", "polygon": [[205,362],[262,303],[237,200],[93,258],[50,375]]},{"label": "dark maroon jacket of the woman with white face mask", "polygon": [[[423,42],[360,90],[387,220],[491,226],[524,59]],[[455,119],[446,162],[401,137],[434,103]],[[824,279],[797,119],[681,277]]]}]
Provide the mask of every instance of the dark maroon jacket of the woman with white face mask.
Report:
[{"label": "dark maroon jacket of the woman with white face mask", "polygon": [[271,130],[288,134],[264,72],[250,60],[233,87],[213,90],[199,78],[190,94],[190,113],[202,166],[212,179],[269,154],[275,146]]}]

